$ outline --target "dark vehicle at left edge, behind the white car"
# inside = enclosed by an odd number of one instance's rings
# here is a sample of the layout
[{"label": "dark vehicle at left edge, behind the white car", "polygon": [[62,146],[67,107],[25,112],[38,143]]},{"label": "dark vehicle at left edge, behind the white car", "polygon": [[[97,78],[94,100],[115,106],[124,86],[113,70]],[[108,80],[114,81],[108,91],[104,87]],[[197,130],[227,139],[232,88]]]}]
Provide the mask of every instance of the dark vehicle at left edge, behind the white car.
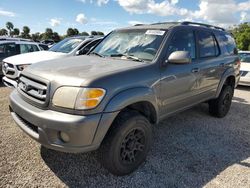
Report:
[{"label": "dark vehicle at left edge, behind the white car", "polygon": [[24,54],[28,52],[35,52],[45,50],[44,44],[39,44],[35,42],[29,42],[23,39],[14,38],[1,38],[0,39],[0,76],[3,75],[2,72],[2,61],[4,58],[14,56],[17,54]]}]

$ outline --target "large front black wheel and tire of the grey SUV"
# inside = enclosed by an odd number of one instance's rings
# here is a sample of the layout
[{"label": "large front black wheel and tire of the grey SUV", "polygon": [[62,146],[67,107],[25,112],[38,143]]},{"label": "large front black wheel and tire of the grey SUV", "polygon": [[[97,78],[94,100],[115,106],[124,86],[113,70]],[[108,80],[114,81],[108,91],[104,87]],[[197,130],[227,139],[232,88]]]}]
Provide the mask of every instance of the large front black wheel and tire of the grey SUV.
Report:
[{"label": "large front black wheel and tire of the grey SUV", "polygon": [[147,118],[135,111],[122,112],[99,149],[100,162],[114,175],[130,174],[146,160],[151,140]]}]

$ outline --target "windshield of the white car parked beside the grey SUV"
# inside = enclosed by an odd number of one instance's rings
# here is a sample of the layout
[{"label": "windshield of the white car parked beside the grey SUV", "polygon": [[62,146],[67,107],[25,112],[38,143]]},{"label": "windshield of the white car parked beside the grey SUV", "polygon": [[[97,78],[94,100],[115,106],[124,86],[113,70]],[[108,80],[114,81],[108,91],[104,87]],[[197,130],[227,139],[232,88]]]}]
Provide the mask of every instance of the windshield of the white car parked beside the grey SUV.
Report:
[{"label": "windshield of the white car parked beside the grey SUV", "polygon": [[79,38],[67,38],[52,46],[49,51],[69,53],[74,50],[82,41],[83,39]]}]

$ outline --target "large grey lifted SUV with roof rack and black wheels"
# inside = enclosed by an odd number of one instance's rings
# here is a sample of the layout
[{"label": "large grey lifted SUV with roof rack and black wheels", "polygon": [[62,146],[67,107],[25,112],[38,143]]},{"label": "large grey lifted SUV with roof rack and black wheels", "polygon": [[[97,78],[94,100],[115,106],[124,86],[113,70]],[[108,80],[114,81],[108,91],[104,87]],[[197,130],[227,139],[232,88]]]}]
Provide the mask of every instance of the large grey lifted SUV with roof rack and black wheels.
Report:
[{"label": "large grey lifted SUV with roof rack and black wheels", "polygon": [[103,166],[125,175],[145,161],[153,125],[201,102],[226,116],[238,81],[236,45],[224,29],[132,26],[110,33],[88,56],[29,66],[10,95],[10,112],[42,145],[99,148]]}]

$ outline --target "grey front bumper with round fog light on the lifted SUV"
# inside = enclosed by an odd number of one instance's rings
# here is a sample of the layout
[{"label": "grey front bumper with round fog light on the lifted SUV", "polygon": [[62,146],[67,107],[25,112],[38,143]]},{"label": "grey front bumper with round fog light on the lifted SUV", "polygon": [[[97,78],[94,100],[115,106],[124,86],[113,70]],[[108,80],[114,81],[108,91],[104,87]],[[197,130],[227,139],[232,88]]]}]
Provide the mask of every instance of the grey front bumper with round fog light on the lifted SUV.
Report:
[{"label": "grey front bumper with round fog light on the lifted SUV", "polygon": [[[95,139],[95,135],[99,135],[96,132],[103,114],[79,116],[42,110],[25,102],[16,90],[10,95],[10,111],[16,124],[25,133],[54,150],[70,153],[92,151],[100,146],[103,139]],[[67,133],[70,141],[63,142],[59,132]]]}]

